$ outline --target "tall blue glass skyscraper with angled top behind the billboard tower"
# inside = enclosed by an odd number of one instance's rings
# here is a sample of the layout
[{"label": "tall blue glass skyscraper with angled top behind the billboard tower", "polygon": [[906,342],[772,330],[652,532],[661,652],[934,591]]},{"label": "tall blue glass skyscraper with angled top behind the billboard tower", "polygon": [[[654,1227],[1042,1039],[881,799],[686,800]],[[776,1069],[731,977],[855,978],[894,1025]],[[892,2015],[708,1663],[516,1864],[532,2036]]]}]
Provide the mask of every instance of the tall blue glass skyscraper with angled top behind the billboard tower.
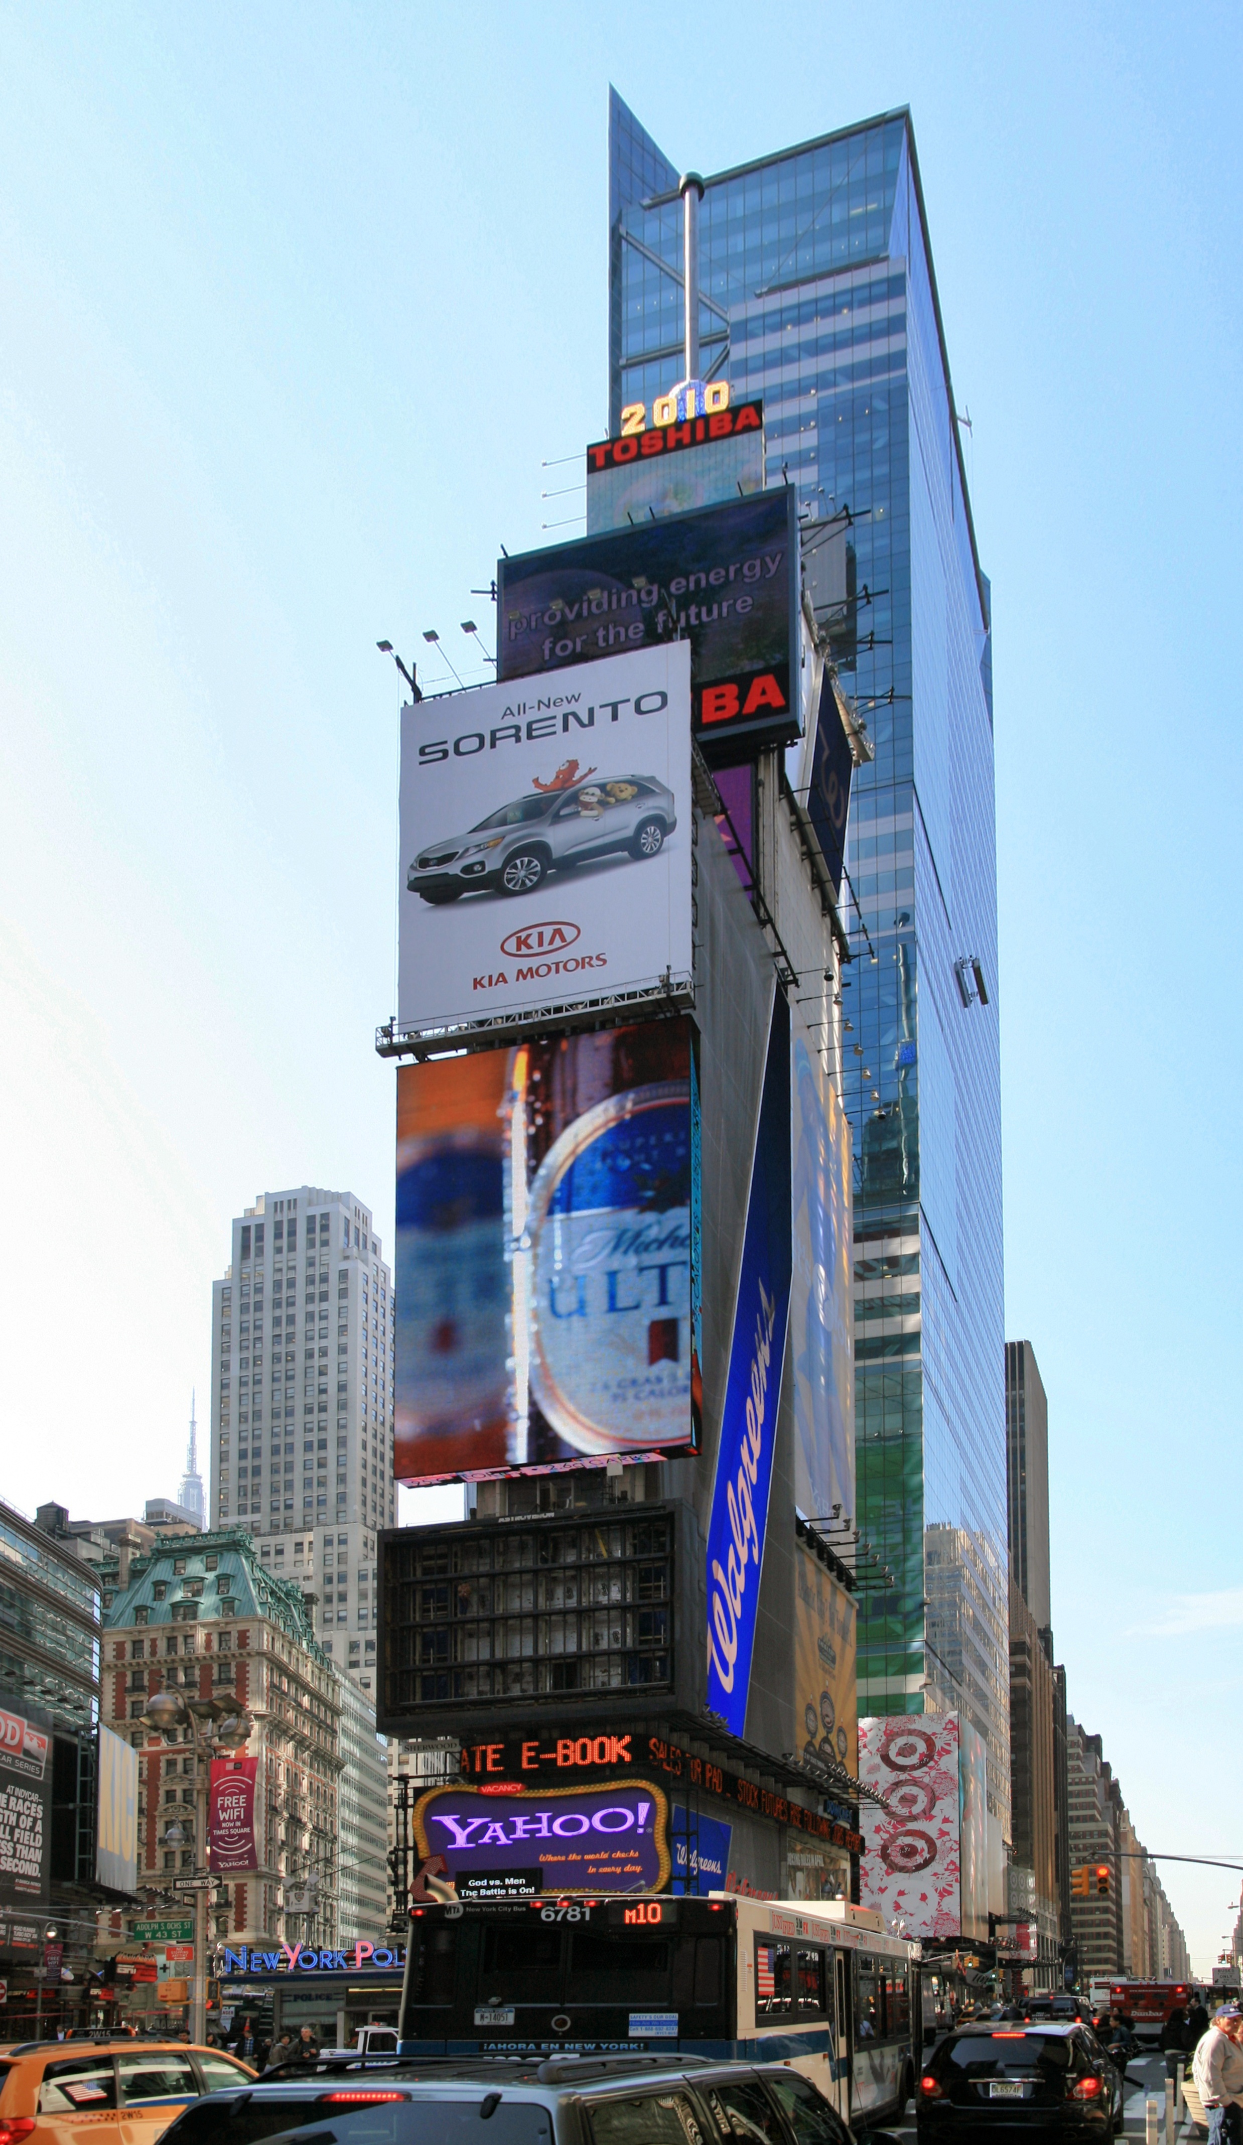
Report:
[{"label": "tall blue glass skyscraper with angled top behind the billboard tower", "polygon": [[[684,373],[677,178],[613,92],[613,431]],[[763,397],[765,480],[851,515],[855,1517],[898,1579],[862,1602],[859,1712],[960,1705],[1009,1836],[990,598],[909,112],[707,178],[699,290],[701,371]]]}]

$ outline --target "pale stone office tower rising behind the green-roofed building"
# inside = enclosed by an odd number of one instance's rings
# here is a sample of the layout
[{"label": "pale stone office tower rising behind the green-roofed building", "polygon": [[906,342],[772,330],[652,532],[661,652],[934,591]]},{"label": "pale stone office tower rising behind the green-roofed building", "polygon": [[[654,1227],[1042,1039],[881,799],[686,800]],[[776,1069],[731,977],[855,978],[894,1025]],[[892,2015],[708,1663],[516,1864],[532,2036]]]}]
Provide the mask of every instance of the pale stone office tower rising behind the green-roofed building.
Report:
[{"label": "pale stone office tower rising behind the green-roofed building", "polygon": [[212,1285],[212,1527],[300,1583],[315,1634],[375,1686],[375,1532],[392,1525],[392,1276],[371,1212],[313,1184],[234,1221]]}]

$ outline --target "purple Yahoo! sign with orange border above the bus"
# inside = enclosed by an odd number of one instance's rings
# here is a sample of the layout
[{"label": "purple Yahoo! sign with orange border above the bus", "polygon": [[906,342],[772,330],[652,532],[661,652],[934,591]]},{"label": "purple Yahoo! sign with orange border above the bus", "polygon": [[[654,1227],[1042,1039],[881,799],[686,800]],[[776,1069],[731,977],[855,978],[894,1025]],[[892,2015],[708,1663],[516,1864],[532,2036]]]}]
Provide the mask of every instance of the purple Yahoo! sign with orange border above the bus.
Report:
[{"label": "purple Yahoo! sign with orange border above the bus", "polygon": [[433,1787],[414,1810],[422,1855],[450,1877],[544,1873],[544,1892],[660,1892],[669,1804],[649,1780],[606,1787]]}]

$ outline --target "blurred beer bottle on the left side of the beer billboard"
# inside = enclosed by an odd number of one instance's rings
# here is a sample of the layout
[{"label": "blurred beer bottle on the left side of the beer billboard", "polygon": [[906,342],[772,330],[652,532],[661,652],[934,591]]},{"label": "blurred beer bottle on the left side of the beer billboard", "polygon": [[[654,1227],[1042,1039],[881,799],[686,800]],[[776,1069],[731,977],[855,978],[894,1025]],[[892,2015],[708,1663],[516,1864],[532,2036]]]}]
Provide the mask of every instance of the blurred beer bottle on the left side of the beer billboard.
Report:
[{"label": "blurred beer bottle on the left side of the beer billboard", "polygon": [[396,1075],[399,1480],[508,1459],[510,1068],[510,1051],[482,1051]]}]

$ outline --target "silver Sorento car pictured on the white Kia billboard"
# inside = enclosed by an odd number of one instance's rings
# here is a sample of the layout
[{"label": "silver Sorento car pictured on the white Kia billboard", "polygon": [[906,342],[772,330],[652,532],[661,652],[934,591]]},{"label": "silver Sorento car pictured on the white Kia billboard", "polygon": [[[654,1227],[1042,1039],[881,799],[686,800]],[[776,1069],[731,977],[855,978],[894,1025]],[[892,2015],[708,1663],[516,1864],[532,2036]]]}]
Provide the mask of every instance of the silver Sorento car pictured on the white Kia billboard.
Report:
[{"label": "silver Sorento car pictured on the white Kia billboard", "polygon": [[424,843],[405,886],[435,907],[482,890],[534,894],[551,871],[600,856],[660,856],[675,826],[673,792],[654,774],[591,776],[514,798],[465,834]]}]

